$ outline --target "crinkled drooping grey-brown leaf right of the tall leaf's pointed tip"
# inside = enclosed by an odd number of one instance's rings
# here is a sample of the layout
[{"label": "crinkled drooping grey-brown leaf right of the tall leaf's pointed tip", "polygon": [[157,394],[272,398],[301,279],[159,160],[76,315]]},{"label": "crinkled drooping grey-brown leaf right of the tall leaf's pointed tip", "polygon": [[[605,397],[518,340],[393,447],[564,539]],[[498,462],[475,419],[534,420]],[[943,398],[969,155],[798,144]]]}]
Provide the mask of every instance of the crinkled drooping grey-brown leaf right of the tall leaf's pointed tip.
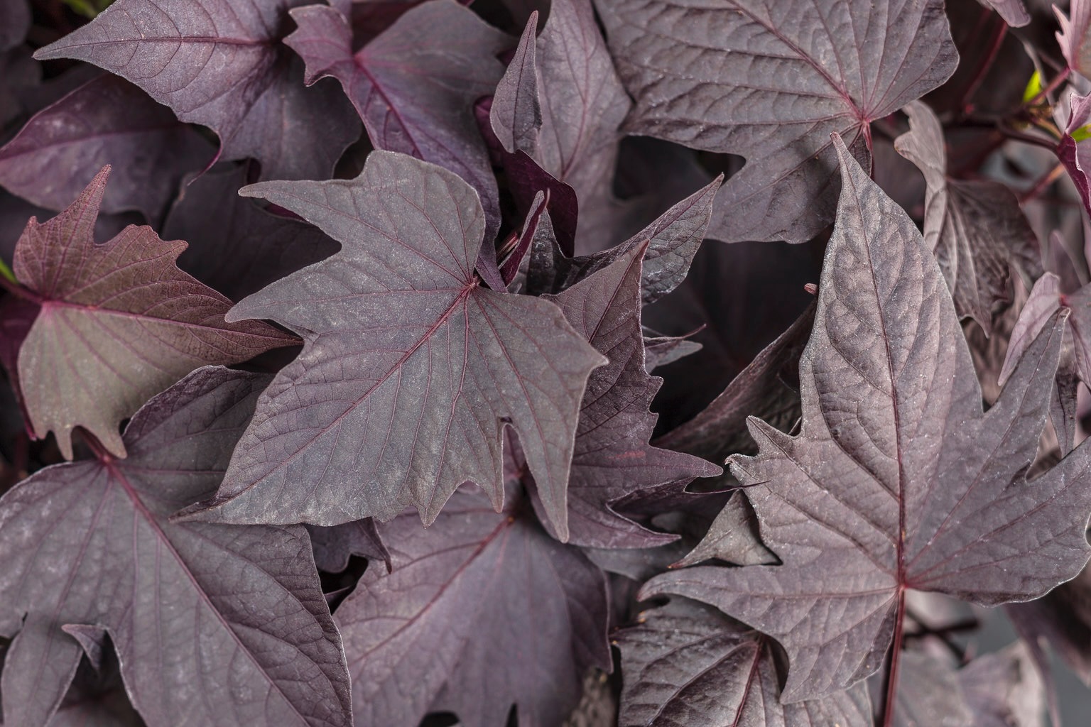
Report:
[{"label": "crinkled drooping grey-brown leaf right of the tall leaf's pointed tip", "polygon": [[1042,275],[1038,237],[1004,184],[947,177],[947,150],[939,119],[922,101],[903,111],[909,132],[895,141],[899,154],[924,173],[924,242],[932,247],[955,312],[992,332],[993,310],[1009,302],[1012,266],[1030,278]]}]

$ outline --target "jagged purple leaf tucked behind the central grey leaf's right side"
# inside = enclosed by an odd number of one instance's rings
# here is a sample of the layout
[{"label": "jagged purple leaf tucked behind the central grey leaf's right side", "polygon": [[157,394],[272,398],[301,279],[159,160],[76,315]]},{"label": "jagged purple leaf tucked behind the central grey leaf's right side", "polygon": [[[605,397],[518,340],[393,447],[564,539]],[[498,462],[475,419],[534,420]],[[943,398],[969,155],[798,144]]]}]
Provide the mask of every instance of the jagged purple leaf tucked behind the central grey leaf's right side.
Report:
[{"label": "jagged purple leaf tucked behind the central grey leaf's right side", "polygon": [[[596,548],[650,547],[675,536],[655,533],[619,514],[622,497],[659,486],[683,488],[720,468],[648,444],[656,414],[648,408],[662,379],[644,368],[640,331],[642,258],[647,243],[553,300],[573,327],[609,363],[591,372],[580,404],[568,475],[568,538]],[[547,524],[547,526],[549,526]]]}]

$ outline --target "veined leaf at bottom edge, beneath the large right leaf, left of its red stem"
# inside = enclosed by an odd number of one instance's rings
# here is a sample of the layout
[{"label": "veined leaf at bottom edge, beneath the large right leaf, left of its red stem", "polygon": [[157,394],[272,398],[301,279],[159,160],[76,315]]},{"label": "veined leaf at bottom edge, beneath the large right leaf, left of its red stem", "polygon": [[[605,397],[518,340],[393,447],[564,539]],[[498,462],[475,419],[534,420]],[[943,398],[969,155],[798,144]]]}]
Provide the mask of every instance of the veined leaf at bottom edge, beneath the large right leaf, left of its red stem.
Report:
[{"label": "veined leaf at bottom edge, beneath the large right leaf, left of its red stem", "polygon": [[614,637],[624,681],[621,727],[871,727],[864,684],[781,704],[783,657],[772,639],[685,598]]}]

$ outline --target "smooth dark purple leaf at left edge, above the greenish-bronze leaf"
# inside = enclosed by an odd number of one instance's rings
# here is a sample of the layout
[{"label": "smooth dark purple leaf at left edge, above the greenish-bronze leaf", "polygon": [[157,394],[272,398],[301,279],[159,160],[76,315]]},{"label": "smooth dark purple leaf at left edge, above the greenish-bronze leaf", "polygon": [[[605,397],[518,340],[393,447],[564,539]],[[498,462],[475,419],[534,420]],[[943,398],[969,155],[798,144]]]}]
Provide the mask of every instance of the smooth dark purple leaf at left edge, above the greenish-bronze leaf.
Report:
[{"label": "smooth dark purple leaf at left edge, above the greenish-bronze leaf", "polygon": [[136,209],[158,220],[179,182],[215,148],[170,109],[108,73],[39,111],[0,147],[0,185],[49,209],[63,209],[106,165],[113,183],[103,210]]}]

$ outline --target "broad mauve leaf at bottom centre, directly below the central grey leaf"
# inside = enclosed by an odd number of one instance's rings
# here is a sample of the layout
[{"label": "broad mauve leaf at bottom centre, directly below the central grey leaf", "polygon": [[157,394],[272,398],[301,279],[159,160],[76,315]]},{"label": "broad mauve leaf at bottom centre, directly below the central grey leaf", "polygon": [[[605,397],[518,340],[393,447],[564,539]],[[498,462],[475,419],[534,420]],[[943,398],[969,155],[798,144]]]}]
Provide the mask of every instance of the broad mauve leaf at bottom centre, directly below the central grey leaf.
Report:
[{"label": "broad mauve leaf at bottom centre, directly below the central grey leaf", "polygon": [[538,524],[515,487],[496,513],[459,490],[427,530],[381,524],[393,570],[369,568],[337,608],[360,725],[416,725],[430,711],[468,727],[559,725],[590,667],[610,670],[603,573]]}]

